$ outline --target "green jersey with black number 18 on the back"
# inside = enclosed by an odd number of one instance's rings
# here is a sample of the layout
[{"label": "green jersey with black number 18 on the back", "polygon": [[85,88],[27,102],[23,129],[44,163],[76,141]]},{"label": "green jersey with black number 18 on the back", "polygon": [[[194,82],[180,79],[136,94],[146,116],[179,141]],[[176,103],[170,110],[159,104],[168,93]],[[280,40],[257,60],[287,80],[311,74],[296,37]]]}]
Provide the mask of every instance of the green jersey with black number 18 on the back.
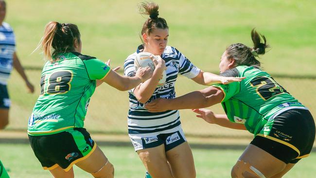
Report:
[{"label": "green jersey with black number 18 on the back", "polygon": [[110,68],[101,60],[80,53],[61,53],[46,62],[41,73],[40,96],[28,123],[29,135],[48,135],[83,127],[96,80]]}]

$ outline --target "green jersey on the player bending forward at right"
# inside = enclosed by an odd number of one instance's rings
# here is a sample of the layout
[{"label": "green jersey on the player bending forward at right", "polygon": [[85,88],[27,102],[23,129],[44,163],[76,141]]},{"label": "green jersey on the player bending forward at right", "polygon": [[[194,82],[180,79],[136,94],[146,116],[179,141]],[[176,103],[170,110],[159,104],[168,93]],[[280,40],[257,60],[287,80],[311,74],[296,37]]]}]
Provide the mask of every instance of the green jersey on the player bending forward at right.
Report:
[{"label": "green jersey on the player bending forward at right", "polygon": [[228,85],[212,85],[221,89],[225,96],[222,106],[231,122],[245,124],[246,129],[257,135],[269,132],[263,126],[284,110],[305,108],[267,72],[254,66],[238,66],[222,76],[246,77],[241,82]]}]

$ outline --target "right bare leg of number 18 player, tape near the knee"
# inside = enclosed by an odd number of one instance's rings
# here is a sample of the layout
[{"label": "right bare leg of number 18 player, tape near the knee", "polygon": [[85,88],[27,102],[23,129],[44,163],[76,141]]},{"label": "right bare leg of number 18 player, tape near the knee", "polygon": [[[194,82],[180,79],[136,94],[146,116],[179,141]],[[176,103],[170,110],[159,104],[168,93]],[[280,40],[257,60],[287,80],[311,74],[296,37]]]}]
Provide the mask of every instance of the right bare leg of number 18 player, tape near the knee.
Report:
[{"label": "right bare leg of number 18 player, tape near the knee", "polygon": [[84,171],[95,178],[113,178],[114,167],[107,160],[102,150],[97,146],[93,153],[85,160],[76,163]]}]

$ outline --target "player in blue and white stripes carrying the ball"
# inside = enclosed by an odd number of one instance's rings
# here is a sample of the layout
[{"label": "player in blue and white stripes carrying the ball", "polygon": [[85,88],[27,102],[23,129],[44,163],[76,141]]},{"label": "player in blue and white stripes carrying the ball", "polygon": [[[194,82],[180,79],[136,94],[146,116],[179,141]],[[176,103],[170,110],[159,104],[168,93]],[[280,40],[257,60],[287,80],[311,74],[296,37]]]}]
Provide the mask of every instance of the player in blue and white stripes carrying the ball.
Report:
[{"label": "player in blue and white stripes carrying the ball", "polygon": [[[128,134],[140,160],[153,178],[195,178],[193,155],[181,128],[179,112],[150,113],[144,104],[156,98],[175,98],[178,74],[201,85],[241,79],[201,71],[176,48],[167,46],[169,28],[166,20],[158,17],[158,8],[156,3],[140,4],[140,13],[149,15],[141,30],[143,44],[124,62],[124,75],[134,76],[137,53],[149,52],[163,59],[159,59],[149,80],[129,91]],[[157,88],[165,69],[166,82]],[[149,178],[148,173],[146,176]]]}]

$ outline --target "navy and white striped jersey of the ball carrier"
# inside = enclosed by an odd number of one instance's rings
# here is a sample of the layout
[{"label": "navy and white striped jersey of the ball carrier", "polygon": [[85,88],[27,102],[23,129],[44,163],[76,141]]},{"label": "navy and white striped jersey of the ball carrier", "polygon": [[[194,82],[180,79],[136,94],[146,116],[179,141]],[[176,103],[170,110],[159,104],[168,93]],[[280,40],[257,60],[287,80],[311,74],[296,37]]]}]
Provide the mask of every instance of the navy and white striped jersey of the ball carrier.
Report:
[{"label": "navy and white striped jersey of the ball carrier", "polygon": [[[135,75],[134,60],[137,53],[143,50],[140,45],[137,52],[129,55],[124,62],[124,75]],[[161,55],[166,63],[167,78],[163,86],[156,88],[150,102],[156,98],[175,98],[175,83],[178,73],[187,78],[194,78],[200,70],[195,67],[189,59],[187,59],[176,48],[167,46]],[[168,110],[165,112],[151,113],[144,108],[144,104],[140,103],[133,93],[134,89],[129,91],[129,111],[128,111],[128,133],[129,134],[152,134],[155,132],[172,130],[180,126],[180,116],[178,110]]]}]

